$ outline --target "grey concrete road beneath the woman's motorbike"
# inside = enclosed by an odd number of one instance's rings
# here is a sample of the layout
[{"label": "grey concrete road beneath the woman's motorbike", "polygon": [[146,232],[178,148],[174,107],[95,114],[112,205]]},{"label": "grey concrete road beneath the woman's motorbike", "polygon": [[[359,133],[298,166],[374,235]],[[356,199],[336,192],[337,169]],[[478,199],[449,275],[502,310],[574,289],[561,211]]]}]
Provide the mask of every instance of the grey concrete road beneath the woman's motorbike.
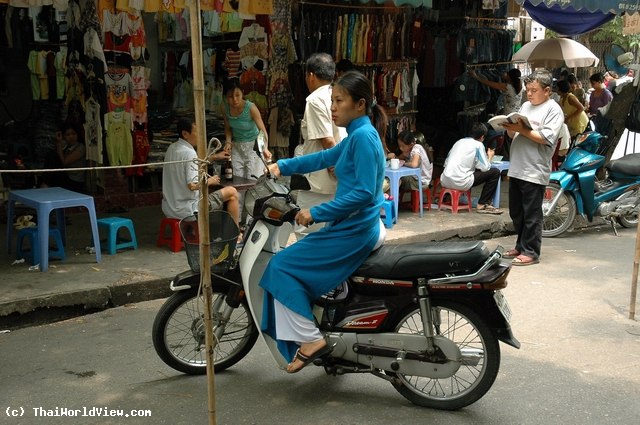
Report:
[{"label": "grey concrete road beneath the woman's motorbike", "polygon": [[[487,243],[509,248],[513,237]],[[493,388],[463,410],[413,406],[368,375],[336,378],[309,367],[290,376],[259,343],[216,375],[217,423],[636,424],[640,326],[627,318],[634,244],[635,230],[616,238],[592,228],[546,239],[541,264],[514,267],[505,293],[522,349],[501,344]],[[207,423],[206,379],[173,371],[153,350],[160,304],[0,334],[0,424]],[[56,408],[150,417],[35,416]]]}]

